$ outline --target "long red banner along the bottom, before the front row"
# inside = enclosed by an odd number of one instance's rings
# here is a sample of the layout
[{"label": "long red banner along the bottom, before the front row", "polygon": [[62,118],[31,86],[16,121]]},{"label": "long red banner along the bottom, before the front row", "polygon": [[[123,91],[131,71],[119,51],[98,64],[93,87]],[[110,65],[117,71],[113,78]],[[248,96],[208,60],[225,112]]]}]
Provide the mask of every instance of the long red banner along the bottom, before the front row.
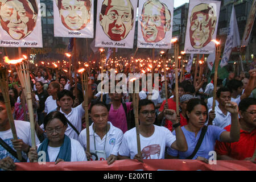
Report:
[{"label": "long red banner along the bottom, before the front row", "polygon": [[108,165],[106,161],[60,162],[55,163],[15,163],[17,171],[255,171],[256,164],[244,160],[217,160],[217,164],[206,164],[200,160],[147,159],[116,160]]}]

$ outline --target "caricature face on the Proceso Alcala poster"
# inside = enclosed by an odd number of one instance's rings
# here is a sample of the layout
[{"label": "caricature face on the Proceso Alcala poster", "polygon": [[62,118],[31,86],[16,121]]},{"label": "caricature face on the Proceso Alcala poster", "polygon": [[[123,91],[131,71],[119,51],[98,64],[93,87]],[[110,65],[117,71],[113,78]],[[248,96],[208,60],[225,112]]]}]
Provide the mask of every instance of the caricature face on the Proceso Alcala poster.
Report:
[{"label": "caricature face on the Proceso Alcala poster", "polygon": [[2,3],[0,18],[3,30],[11,38],[20,40],[29,35],[36,26],[37,13],[27,0],[13,0]]}]

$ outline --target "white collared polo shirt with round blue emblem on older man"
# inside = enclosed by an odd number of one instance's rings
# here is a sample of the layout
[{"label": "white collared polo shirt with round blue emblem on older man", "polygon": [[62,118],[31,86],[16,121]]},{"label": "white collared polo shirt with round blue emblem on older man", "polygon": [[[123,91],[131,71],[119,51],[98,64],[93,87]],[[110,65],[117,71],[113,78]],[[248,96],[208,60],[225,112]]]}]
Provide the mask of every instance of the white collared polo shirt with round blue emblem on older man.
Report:
[{"label": "white collared polo shirt with round blue emblem on older man", "polygon": [[[93,130],[93,123],[89,127],[89,135],[90,135],[90,150],[104,150],[105,146],[105,152],[106,157],[108,158],[110,155],[118,155],[119,147],[122,143],[123,138],[123,132],[122,130],[118,129],[117,127],[113,126],[111,122],[109,122],[110,129],[108,133],[101,138],[94,133]],[[94,146],[94,137],[95,136],[95,144]],[[79,135],[79,141],[86,150],[86,129],[82,130]],[[105,144],[106,143],[106,144]]]}]

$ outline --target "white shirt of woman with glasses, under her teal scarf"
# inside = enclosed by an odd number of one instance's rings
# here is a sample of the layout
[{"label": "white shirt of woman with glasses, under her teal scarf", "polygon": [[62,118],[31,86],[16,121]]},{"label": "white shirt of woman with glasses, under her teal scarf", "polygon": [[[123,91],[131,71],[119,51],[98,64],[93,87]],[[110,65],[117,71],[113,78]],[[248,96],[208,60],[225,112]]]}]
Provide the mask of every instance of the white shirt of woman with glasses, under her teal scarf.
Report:
[{"label": "white shirt of woman with glasses, under her teal scarf", "polygon": [[[40,146],[40,144],[38,144],[38,147]],[[49,155],[49,162],[55,162],[59,154],[59,151],[60,151],[60,147],[48,146],[47,152]],[[87,158],[86,158],[84,148],[82,148],[79,141],[71,138],[71,162],[86,161],[86,160]]]}]

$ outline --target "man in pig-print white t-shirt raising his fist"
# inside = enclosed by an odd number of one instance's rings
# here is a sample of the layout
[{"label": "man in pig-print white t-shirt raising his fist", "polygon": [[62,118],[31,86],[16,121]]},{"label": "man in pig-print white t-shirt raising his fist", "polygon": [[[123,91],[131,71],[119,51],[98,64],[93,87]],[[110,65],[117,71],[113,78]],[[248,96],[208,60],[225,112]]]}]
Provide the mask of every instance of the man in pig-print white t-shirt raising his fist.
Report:
[{"label": "man in pig-print white t-shirt raising his fist", "polygon": [[[181,131],[180,123],[177,120],[174,110],[166,109],[164,116],[171,120],[176,133],[172,135],[166,127],[156,126],[155,106],[150,100],[139,101],[139,138],[141,142],[141,155],[138,154],[136,128],[126,131],[123,135],[122,144],[119,148],[118,159],[164,159],[166,146],[177,148],[179,151],[187,151],[187,142]],[[177,138],[177,139],[176,139]]]}]

